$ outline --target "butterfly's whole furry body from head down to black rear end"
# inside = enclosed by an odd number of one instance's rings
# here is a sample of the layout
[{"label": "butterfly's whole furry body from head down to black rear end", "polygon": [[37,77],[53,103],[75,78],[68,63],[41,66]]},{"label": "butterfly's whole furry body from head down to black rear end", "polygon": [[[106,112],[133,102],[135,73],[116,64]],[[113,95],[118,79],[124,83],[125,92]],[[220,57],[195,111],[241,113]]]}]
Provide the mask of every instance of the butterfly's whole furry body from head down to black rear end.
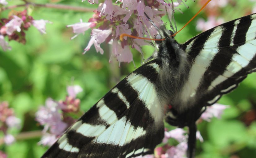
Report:
[{"label": "butterfly's whole furry body from head down to black rear end", "polygon": [[189,102],[183,101],[180,95],[191,65],[183,47],[173,37],[170,37],[171,32],[161,27],[160,34],[165,39],[158,44],[159,51],[154,56],[160,63],[155,84],[156,91],[162,105],[172,106],[172,109],[165,108],[164,110],[166,121],[171,125],[186,126],[190,124],[190,120],[194,122],[201,111],[194,109],[196,112],[193,113],[196,113],[196,116],[191,116]]}]

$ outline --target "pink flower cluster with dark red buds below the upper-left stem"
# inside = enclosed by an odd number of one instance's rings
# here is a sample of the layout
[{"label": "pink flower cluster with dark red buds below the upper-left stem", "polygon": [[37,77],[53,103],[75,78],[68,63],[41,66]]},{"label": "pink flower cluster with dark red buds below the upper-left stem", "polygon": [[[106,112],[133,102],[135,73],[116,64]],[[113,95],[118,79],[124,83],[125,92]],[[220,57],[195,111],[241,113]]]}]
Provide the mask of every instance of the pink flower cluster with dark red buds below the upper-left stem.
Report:
[{"label": "pink flower cluster with dark red buds below the upper-left stem", "polygon": [[34,25],[40,33],[45,33],[45,24],[51,23],[48,20],[34,20],[32,16],[27,14],[27,10],[17,12],[16,15],[11,15],[8,19],[0,20],[0,45],[4,51],[10,50],[8,42],[4,37],[7,36],[8,40],[15,40],[22,44],[26,43],[25,31]]}]

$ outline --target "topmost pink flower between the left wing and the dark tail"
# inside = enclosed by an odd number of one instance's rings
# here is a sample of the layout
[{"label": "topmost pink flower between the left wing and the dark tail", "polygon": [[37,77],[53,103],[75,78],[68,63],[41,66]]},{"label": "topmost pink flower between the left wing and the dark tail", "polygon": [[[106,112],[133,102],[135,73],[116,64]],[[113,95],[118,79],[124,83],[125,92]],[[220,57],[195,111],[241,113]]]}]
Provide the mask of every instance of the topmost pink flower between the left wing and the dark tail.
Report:
[{"label": "topmost pink flower between the left wing and the dark tail", "polygon": [[182,142],[186,139],[186,136],[184,135],[185,133],[186,131],[184,131],[181,128],[176,128],[176,129],[170,130],[169,132],[164,131],[163,143],[167,143],[169,138],[174,138],[178,142]]}]

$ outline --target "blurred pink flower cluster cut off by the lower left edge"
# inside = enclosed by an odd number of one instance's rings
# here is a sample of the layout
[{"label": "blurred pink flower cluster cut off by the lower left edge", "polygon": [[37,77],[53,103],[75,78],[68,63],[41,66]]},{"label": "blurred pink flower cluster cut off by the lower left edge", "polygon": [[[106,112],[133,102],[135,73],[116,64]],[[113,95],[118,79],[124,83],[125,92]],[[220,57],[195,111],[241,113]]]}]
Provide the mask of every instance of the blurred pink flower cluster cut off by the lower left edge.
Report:
[{"label": "blurred pink flower cluster cut off by the lower left edge", "polygon": [[15,141],[13,135],[8,133],[10,128],[20,128],[20,119],[14,116],[14,111],[7,102],[0,103],[0,131],[5,135],[4,142],[9,145]]}]

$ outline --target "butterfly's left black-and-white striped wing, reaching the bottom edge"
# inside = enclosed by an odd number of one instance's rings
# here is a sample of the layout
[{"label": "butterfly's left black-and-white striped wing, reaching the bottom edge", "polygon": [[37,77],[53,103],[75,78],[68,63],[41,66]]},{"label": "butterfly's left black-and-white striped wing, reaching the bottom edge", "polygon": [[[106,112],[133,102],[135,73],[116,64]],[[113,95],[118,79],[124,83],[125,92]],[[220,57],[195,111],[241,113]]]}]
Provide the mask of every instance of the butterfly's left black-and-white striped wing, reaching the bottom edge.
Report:
[{"label": "butterfly's left black-and-white striped wing, reaching the bottom edge", "polygon": [[74,123],[42,158],[130,158],[151,154],[164,137],[154,87],[157,60],[136,69]]}]

